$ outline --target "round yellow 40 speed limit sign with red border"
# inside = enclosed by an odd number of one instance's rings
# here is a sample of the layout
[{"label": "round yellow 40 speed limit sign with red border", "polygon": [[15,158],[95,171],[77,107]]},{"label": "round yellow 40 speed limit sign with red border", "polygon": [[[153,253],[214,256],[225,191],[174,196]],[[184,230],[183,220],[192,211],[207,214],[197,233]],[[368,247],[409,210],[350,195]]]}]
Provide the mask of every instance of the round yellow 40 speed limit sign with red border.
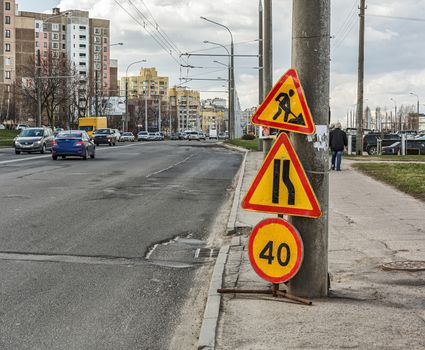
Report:
[{"label": "round yellow 40 speed limit sign with red border", "polygon": [[255,226],[248,249],[255,272],[272,283],[294,277],[304,256],[300,234],[289,222],[279,218],[265,219]]}]

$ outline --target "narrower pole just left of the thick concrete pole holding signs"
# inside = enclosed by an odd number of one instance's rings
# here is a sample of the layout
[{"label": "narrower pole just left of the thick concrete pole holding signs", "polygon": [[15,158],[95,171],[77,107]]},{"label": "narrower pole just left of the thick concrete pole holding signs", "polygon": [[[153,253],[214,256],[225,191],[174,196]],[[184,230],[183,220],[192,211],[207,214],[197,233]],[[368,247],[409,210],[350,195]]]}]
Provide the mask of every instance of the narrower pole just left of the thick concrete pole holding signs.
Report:
[{"label": "narrower pole just left of the thick concrete pole holding signs", "polygon": [[[263,37],[263,98],[273,88],[273,13],[272,0],[264,0],[264,37]],[[263,101],[261,101],[263,102]],[[263,139],[264,156],[269,153],[273,139]]]}]

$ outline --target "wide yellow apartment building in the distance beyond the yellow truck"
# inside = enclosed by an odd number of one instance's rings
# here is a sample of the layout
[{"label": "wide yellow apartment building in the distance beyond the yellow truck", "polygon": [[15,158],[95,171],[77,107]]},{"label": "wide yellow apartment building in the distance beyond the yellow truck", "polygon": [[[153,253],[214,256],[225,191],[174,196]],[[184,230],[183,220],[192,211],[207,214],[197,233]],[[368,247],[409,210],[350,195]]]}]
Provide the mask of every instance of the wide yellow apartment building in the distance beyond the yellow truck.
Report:
[{"label": "wide yellow apartment building in the distance beyond the yellow truck", "polygon": [[161,97],[167,100],[168,77],[158,76],[154,67],[140,69],[139,75],[121,78],[121,94],[125,95],[126,81],[128,82],[129,99],[146,96],[150,98]]}]

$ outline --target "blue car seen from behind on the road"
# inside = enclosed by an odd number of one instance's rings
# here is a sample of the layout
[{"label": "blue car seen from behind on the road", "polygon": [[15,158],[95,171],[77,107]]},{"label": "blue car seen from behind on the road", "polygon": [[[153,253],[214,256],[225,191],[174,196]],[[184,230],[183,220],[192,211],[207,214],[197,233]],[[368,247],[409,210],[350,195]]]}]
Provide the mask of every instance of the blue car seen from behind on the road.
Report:
[{"label": "blue car seen from behind on the road", "polygon": [[58,157],[65,159],[75,156],[84,160],[88,157],[94,159],[95,147],[84,130],[61,131],[53,141],[52,158],[56,160]]}]

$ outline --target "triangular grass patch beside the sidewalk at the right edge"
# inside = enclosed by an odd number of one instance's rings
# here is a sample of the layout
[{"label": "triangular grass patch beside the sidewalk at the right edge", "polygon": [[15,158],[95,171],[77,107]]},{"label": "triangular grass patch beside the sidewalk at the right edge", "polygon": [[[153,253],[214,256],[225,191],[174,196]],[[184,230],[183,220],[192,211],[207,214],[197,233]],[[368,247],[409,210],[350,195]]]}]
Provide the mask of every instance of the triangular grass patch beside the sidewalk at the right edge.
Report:
[{"label": "triangular grass patch beside the sidewalk at the right edge", "polygon": [[357,163],[352,166],[425,202],[425,164]]}]

